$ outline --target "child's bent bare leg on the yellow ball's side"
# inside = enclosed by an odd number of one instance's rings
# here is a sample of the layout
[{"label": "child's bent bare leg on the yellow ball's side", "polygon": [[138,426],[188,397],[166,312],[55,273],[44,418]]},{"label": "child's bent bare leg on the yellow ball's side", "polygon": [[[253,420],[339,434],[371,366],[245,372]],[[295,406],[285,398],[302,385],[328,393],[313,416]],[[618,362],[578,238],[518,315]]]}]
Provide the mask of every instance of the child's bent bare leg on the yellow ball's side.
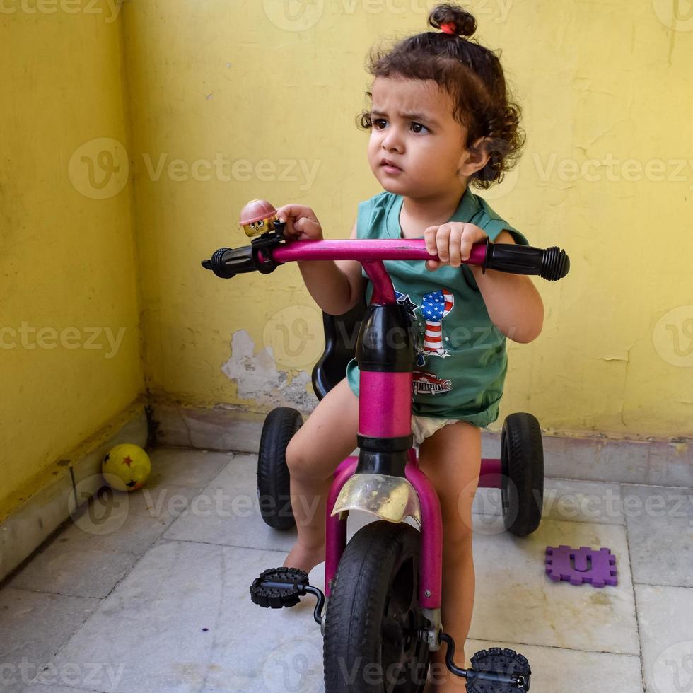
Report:
[{"label": "child's bent bare leg on the yellow ball's side", "polygon": [[298,540],[284,566],[306,572],[325,560],[325,512],[334,470],[356,448],[359,398],[347,378],[327,392],[288,448],[291,506]]}]

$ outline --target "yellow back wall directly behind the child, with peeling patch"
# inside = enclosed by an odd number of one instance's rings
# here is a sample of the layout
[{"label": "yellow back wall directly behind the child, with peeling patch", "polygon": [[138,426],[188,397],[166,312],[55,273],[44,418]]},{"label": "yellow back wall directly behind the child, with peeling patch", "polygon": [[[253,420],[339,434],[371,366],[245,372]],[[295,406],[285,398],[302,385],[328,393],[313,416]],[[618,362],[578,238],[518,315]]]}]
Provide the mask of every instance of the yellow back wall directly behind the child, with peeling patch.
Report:
[{"label": "yellow back wall directly behind the child, with peeling patch", "polygon": [[[518,175],[491,204],[533,245],[561,245],[572,260],[566,281],[537,280],[547,308],[540,338],[508,342],[494,429],[528,409],[557,433],[693,434],[693,165],[677,170],[692,156],[693,31],[665,25],[667,3],[470,3],[482,40],[503,49],[528,132]],[[254,197],[312,206],[327,238],[347,237],[357,203],[380,192],[367,135],[354,127],[368,86],[364,56],[378,37],[422,30],[431,4],[319,1],[293,23],[270,0],[124,6],[156,396],[262,410],[281,399],[288,373],[297,378],[284,401],[304,403],[322,331],[298,268],[221,281],[198,262],[219,245],[245,245],[236,221]],[[217,156],[227,160],[221,175]],[[185,164],[174,175],[155,180],[148,170],[175,159]],[[571,173],[590,159],[601,163]],[[317,165],[315,180],[301,162]],[[302,321],[308,330],[296,337]]]}]

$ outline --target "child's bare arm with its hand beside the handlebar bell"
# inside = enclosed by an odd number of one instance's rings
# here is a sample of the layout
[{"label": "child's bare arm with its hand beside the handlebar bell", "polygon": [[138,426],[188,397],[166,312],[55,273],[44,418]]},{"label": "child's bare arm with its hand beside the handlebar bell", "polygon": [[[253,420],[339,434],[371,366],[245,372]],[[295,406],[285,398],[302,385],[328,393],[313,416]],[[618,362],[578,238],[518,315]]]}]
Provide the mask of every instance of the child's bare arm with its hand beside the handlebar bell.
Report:
[{"label": "child's bare arm with its hand beside the handlebar bell", "polygon": [[[322,227],[310,207],[288,204],[276,211],[279,221],[286,221],[284,236],[291,240],[322,240]],[[356,223],[351,231],[356,238]],[[298,262],[310,295],[328,315],[342,315],[356,305],[366,290],[361,263],[355,260],[305,260]]]}]

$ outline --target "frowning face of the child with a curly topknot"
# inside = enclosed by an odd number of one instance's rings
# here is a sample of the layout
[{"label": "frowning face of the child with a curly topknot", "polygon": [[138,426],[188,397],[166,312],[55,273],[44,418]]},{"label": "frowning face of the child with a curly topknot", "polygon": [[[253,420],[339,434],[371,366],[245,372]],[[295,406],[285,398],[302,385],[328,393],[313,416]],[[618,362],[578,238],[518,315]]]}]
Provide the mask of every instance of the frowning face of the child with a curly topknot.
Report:
[{"label": "frowning face of the child with a curly topknot", "polygon": [[[380,185],[406,197],[460,190],[473,171],[467,128],[453,118],[450,95],[432,80],[392,77],[375,78],[371,92],[368,163]],[[401,170],[388,170],[383,159]]]}]

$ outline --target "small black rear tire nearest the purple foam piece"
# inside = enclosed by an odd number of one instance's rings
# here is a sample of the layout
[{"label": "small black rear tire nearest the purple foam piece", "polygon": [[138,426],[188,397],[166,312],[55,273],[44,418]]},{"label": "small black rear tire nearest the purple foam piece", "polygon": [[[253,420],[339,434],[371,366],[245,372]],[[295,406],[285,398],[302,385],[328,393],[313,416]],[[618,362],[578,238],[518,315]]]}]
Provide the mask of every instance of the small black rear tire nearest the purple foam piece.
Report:
[{"label": "small black rear tire nearest the purple foam piece", "polygon": [[539,421],[518,412],[501,431],[501,499],[506,530],[526,537],[539,527],[544,508],[544,446]]}]

